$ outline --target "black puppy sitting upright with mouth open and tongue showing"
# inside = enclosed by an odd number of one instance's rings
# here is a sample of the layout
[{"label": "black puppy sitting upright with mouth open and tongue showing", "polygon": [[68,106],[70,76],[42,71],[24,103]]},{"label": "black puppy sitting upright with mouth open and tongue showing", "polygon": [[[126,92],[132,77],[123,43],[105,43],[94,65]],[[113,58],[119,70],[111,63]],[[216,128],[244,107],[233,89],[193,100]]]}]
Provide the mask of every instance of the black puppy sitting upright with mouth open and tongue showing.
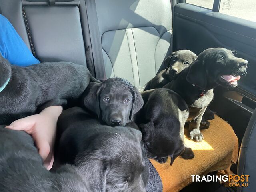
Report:
[{"label": "black puppy sitting upright with mouth open and tongue showing", "polygon": [[225,48],[210,48],[164,88],[174,90],[189,106],[190,139],[201,142],[200,122],[213,99],[213,89],[218,86],[233,88],[240,79],[238,74],[246,70],[248,61],[237,58]]}]

